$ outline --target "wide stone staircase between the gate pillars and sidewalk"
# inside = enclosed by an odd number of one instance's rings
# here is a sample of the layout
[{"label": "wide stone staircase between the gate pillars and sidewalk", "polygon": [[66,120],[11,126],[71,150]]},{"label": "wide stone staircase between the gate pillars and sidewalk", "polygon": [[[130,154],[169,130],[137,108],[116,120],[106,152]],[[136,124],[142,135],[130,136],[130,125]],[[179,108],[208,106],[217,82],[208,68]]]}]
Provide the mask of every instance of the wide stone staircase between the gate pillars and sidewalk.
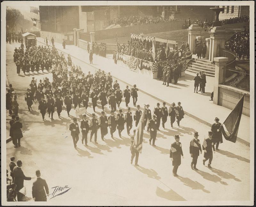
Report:
[{"label": "wide stone staircase between the gate pillars and sidewalk", "polygon": [[215,76],[215,65],[207,59],[197,59],[193,58],[188,62],[188,69],[186,71],[192,73],[199,73],[199,71],[204,71],[206,76]]}]

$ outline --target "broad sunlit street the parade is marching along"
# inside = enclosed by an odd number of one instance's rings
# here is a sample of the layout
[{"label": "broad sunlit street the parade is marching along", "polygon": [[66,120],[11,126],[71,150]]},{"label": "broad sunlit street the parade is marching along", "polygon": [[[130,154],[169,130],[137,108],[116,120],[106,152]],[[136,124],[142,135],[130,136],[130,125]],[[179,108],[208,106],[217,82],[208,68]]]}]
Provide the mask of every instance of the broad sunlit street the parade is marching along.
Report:
[{"label": "broad sunlit street the parade is marching along", "polygon": [[[41,43],[38,42],[38,44]],[[71,187],[71,190],[66,194],[54,197],[50,201],[56,203],[65,201],[67,205],[74,204],[74,201],[77,205],[175,205],[173,201],[249,200],[250,147],[240,142],[231,143],[223,140],[224,142],[220,144],[220,151],[213,155],[212,169],[203,166],[202,154],[198,158],[197,168],[199,171],[191,170],[192,158],[189,154],[189,142],[193,138],[193,131],[199,132],[199,139],[202,143],[210,128],[187,115],[182,119],[180,128],[177,127],[177,123],[174,123],[174,129],[171,129],[169,119],[165,124],[165,130],[160,126],[156,147],[149,145],[149,134],[144,131],[143,149],[138,162],[139,167],[130,164],[130,137],[126,130],[122,132],[122,139],[118,137],[116,131],[114,133],[115,140],[111,139],[110,134],[108,134],[105,141],[100,139],[100,130],[98,130],[99,144],[95,145],[94,142],[89,142],[88,147],[82,145],[82,136],[80,135],[77,149],[74,149],[70,131],[66,131],[66,123],[70,121],[70,118],[65,107],[63,107],[61,118],[58,118],[57,112],[54,113],[54,120],[48,118],[46,114],[46,121],[42,121],[42,116],[35,105],[32,105],[33,110],[28,112],[24,94],[33,75],[18,76],[16,74],[16,66],[13,62],[14,47],[19,47],[19,44],[6,45],[6,71],[8,82],[13,85],[18,96],[19,116],[22,119],[21,122],[25,132],[21,139],[21,147],[13,148],[12,142],[7,144],[6,167],[9,170],[10,157],[15,156],[16,160],[22,160],[22,169],[26,176],[35,176],[36,169],[40,169],[42,178],[46,179],[50,192],[51,188],[55,186],[67,185]],[[66,51],[71,54],[71,50],[68,49],[69,45],[66,48]],[[72,58],[72,61],[75,65],[80,65],[85,73],[88,71],[93,73],[97,65],[104,63],[106,68],[102,68],[102,70],[108,72],[113,68],[113,76],[117,75],[116,67],[118,66],[111,59],[106,59],[103,62],[100,57],[95,56],[95,64],[91,66],[81,61],[83,60],[81,56],[84,56],[84,61],[89,61],[85,51],[77,55],[78,59]],[[122,73],[121,70],[122,72],[125,71],[124,68],[119,67],[118,73]],[[23,75],[22,72],[21,74]],[[40,71],[40,75],[34,75],[37,82],[45,76],[49,77],[50,82],[52,81],[51,74],[42,74]],[[151,111],[159,102],[152,97],[152,94],[160,92],[162,88],[162,83],[156,80],[153,81],[156,83],[154,85],[156,90],[153,92],[147,91],[151,96],[139,91],[137,102],[140,106],[149,103]],[[136,82],[138,82],[138,79],[134,80],[134,83]],[[182,85],[184,82],[188,84]],[[123,90],[126,84],[123,82],[119,82],[119,84]],[[171,87],[176,91],[182,88],[182,92],[184,89],[184,93],[187,93],[188,89],[186,88],[191,84],[193,84],[191,80],[183,79],[180,85],[175,86],[176,88]],[[144,89],[145,86],[139,87]],[[193,91],[192,88],[189,90]],[[206,87],[206,91],[211,90],[210,86],[209,88]],[[208,96],[195,94],[195,97],[197,95],[198,100],[209,100]],[[187,108],[189,106],[188,102],[184,102],[185,99],[182,101],[181,92],[179,97],[172,97],[172,94],[170,94],[168,100],[170,100],[169,103],[181,101],[183,106],[185,105]],[[162,106],[162,103],[160,104]],[[132,107],[131,102],[130,106],[132,110],[136,110]],[[186,107],[184,107],[185,111]],[[193,107],[195,110],[199,110],[199,106]],[[124,101],[121,103],[121,108],[123,113],[127,111]],[[92,106],[90,105],[87,116],[91,118],[92,112]],[[96,112],[96,116],[99,117],[101,112],[99,102]],[[108,115],[109,112],[108,108]],[[221,112],[222,109],[217,115],[212,116],[212,123],[215,116],[224,116],[221,115]],[[212,114],[212,112],[209,113]],[[75,110],[72,109],[70,114],[75,116]],[[204,116],[206,115],[204,114]],[[6,117],[8,138],[9,120],[11,119],[8,111]],[[207,115],[207,119],[210,120],[209,115]],[[221,121],[224,121],[223,119]],[[78,120],[80,126],[80,118]],[[246,129],[248,128],[249,126]],[[239,130],[246,129],[241,127]],[[172,162],[169,158],[170,145],[174,142],[173,136],[175,134],[179,134],[181,137],[180,142],[184,153],[184,159],[181,160],[178,169],[179,177],[172,176]],[[89,136],[90,134],[88,140]],[[28,200],[30,201],[32,200],[32,183],[33,181],[24,181],[24,185],[27,187]],[[70,198],[73,198],[73,201]]]}]

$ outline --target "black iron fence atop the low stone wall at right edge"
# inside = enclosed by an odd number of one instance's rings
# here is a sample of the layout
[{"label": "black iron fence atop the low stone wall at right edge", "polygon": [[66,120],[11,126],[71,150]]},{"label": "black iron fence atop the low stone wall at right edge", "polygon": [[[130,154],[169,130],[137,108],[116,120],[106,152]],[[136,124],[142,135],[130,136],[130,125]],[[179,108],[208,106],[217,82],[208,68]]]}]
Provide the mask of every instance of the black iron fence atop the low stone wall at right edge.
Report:
[{"label": "black iron fence atop the low stone wall at right edge", "polygon": [[240,68],[224,67],[222,84],[250,92],[250,73]]}]

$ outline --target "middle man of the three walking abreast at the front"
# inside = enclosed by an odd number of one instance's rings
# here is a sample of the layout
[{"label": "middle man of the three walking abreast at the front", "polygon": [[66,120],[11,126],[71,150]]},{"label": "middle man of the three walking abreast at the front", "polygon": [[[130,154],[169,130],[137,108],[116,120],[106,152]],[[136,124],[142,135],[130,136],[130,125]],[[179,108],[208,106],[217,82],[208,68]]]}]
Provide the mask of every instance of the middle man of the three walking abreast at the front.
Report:
[{"label": "middle man of the three walking abreast at the front", "polygon": [[201,148],[201,144],[200,144],[200,141],[198,138],[198,132],[197,131],[194,131],[194,139],[192,139],[190,141],[190,145],[189,145],[189,153],[192,157],[192,162],[191,162],[191,169],[195,169],[195,170],[198,170],[196,168],[196,163],[197,163],[197,158],[199,156],[199,151],[200,151],[200,154],[202,154],[202,148]]}]

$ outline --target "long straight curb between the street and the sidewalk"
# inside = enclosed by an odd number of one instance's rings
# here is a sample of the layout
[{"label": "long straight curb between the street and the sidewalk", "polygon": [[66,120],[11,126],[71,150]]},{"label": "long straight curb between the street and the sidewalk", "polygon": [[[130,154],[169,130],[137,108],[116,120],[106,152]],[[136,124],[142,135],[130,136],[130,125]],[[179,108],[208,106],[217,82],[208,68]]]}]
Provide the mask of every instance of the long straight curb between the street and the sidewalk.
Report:
[{"label": "long straight curb between the street and the sidewalk", "polygon": [[[38,40],[37,40],[37,41],[38,41]],[[43,43],[43,42],[41,42],[41,41],[38,41],[38,42]],[[43,44],[45,44],[45,43],[43,43]],[[51,46],[51,45],[50,45],[50,46]],[[51,46],[51,47],[52,47],[52,46]],[[59,51],[61,51],[61,52],[63,52],[63,53],[68,54],[67,52],[64,52],[64,51],[62,51],[62,50],[60,50],[60,49],[58,49],[58,48],[56,48],[56,49],[59,50]],[[80,59],[78,59],[77,57],[75,57],[75,56],[73,56],[73,55],[71,55],[71,54],[69,54],[69,55],[70,55],[71,57],[77,59],[77,60],[80,60]],[[95,66],[93,66],[93,65],[91,65],[91,64],[89,64],[89,63],[87,63],[87,62],[85,62],[84,60],[80,60],[80,61],[81,61],[81,62],[84,62],[84,63],[87,64],[87,65],[92,66],[92,67],[95,68],[95,69],[99,69],[99,68],[96,68]],[[121,66],[121,67],[122,67],[122,66]],[[121,80],[121,79],[117,78],[116,76],[112,76],[112,77],[115,78],[115,79],[117,79],[118,81],[120,81],[120,82],[126,84],[126,85],[131,85],[131,84],[125,82],[124,80]],[[138,89],[140,89],[140,88],[138,87]],[[148,92],[146,92],[146,91],[144,91],[144,90],[141,90],[141,89],[140,89],[140,91],[143,92],[143,93],[145,93],[145,94],[147,94],[148,96],[150,96],[150,97],[152,97],[152,98],[154,98],[154,99],[160,101],[160,102],[166,102],[166,105],[167,105],[167,106],[171,106],[171,104],[169,104],[169,103],[168,103],[167,101],[165,101],[165,100],[162,100],[162,99],[160,99],[160,98],[158,98],[158,97],[156,97],[156,96],[153,96],[152,94],[150,94],[150,93],[148,93]],[[199,121],[199,122],[201,122],[201,123],[203,123],[203,124],[205,124],[205,125],[207,125],[207,126],[209,126],[209,127],[212,126],[211,123],[209,123],[209,122],[207,122],[207,121],[204,121],[203,119],[198,118],[197,116],[195,116],[195,115],[193,115],[193,114],[190,114],[190,113],[188,113],[187,111],[184,111],[184,113],[185,113],[185,115],[188,115],[189,117],[195,119],[196,121]],[[244,139],[241,139],[241,138],[239,138],[239,137],[237,137],[236,140],[237,140],[238,142],[240,142],[240,143],[242,143],[242,144],[247,145],[248,147],[250,147],[250,142],[247,142],[247,141],[245,141]]]}]

